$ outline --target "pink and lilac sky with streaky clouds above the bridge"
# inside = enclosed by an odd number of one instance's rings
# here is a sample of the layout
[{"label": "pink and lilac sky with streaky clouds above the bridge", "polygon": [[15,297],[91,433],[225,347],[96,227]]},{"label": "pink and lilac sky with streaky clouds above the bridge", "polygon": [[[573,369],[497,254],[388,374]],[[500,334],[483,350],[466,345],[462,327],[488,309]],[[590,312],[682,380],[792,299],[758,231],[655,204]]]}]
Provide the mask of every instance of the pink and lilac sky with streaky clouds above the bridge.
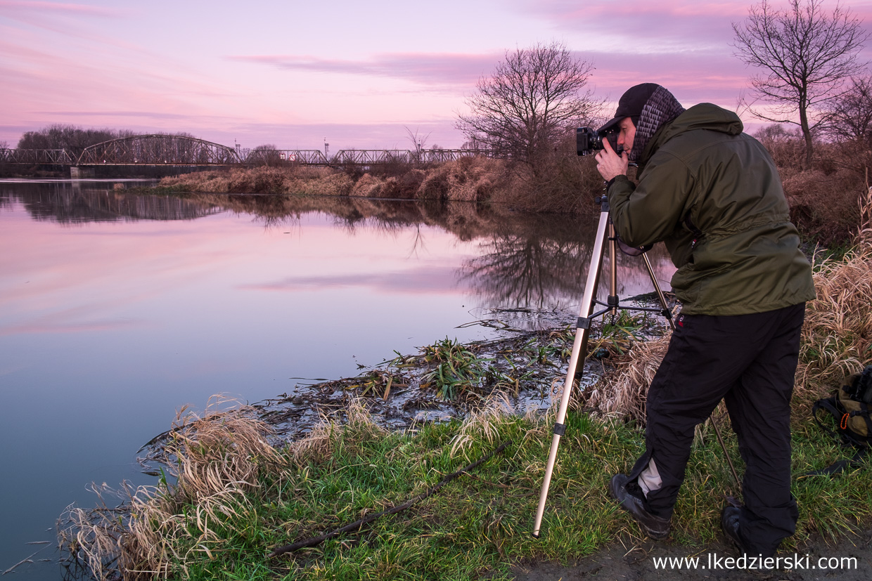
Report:
[{"label": "pink and lilac sky with streaky clouds above the bridge", "polygon": [[[685,105],[735,109],[753,70],[732,56],[731,23],[751,5],[0,0],[0,142],[63,123],[243,147],[326,138],[334,152],[407,149],[409,128],[457,147],[476,80],[506,50],[553,40],[595,65],[599,98],[655,82]],[[872,30],[872,0],[843,5]]]}]

